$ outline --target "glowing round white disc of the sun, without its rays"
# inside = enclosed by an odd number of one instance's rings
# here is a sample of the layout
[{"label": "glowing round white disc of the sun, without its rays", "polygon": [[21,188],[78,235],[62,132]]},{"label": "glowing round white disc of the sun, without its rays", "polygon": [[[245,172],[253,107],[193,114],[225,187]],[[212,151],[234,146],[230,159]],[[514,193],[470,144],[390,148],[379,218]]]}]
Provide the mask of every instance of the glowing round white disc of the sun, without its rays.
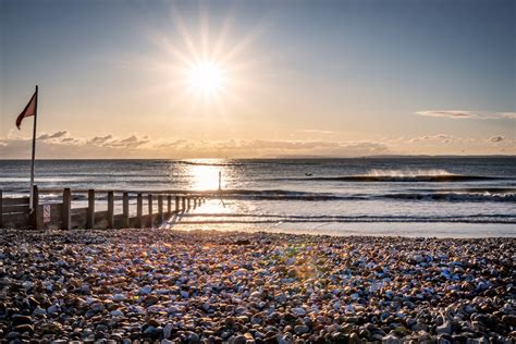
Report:
[{"label": "glowing round white disc of the sun, without its rays", "polygon": [[216,61],[199,61],[187,73],[189,86],[205,96],[216,96],[224,86],[224,71]]}]

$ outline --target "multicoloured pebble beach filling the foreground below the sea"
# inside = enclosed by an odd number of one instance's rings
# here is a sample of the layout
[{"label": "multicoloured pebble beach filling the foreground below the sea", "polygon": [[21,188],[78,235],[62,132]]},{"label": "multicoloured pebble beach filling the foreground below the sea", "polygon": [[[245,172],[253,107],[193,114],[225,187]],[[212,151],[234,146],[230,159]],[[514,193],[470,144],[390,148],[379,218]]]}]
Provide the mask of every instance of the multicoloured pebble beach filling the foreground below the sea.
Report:
[{"label": "multicoloured pebble beach filling the foreground below the sea", "polygon": [[0,234],[2,343],[516,341],[516,238]]}]

